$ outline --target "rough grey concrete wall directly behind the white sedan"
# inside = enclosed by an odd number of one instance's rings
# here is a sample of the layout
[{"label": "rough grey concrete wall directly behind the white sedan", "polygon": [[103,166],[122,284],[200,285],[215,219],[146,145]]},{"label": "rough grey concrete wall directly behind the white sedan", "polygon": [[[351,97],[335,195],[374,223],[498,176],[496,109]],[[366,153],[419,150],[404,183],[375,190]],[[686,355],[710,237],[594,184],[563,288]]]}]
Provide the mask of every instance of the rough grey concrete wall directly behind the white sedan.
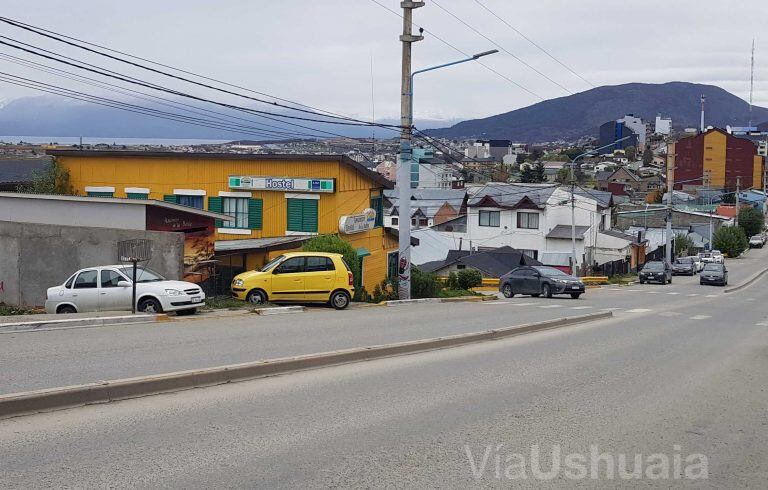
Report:
[{"label": "rough grey concrete wall directly behind the white sedan", "polygon": [[0,221],[0,302],[42,306],[46,289],[76,270],[119,263],[117,242],[133,238],[153,241],[147,267],[168,279],[182,277],[182,233]]}]

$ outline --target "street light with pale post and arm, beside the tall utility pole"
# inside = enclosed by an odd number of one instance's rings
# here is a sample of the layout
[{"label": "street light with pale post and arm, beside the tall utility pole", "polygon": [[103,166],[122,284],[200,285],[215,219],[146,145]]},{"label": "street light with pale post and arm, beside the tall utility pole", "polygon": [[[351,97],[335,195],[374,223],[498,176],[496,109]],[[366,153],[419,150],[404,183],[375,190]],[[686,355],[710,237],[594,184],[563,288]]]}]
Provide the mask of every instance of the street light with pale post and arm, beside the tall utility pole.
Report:
[{"label": "street light with pale post and arm, beside the tall utility pole", "polygon": [[483,56],[498,53],[498,49],[483,51],[473,54],[469,58],[464,58],[442,65],[432,66],[421,70],[411,72],[410,90],[403,90],[403,97],[408,98],[408,113],[405,114],[405,124],[400,135],[400,166],[397,169],[398,186],[398,297],[400,299],[411,299],[411,165],[413,163],[411,151],[411,133],[413,128],[413,77],[419,73],[424,73],[447,66],[458,65],[468,61],[475,61]]}]

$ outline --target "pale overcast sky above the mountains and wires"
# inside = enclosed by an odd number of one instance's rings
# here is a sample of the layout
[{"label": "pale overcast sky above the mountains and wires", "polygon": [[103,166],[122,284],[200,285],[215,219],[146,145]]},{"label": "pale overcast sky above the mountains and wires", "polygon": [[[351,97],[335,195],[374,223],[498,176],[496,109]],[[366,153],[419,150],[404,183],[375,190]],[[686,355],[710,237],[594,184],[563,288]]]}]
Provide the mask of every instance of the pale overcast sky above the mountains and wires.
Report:
[{"label": "pale overcast sky above the mountains and wires", "polygon": [[[378,1],[399,11],[399,0]],[[757,4],[722,0],[481,1],[595,86],[681,80],[718,85],[745,99],[750,45],[765,24],[764,15],[751,10]],[[438,3],[571,92],[591,88],[474,0]],[[399,115],[402,20],[372,0],[3,0],[3,7],[3,15],[16,20],[357,117],[371,116],[373,64],[376,117]],[[415,11],[415,21],[466,53],[495,47],[431,0]],[[8,25],[0,35],[153,79]],[[0,53],[31,58],[4,46]],[[414,45],[413,67],[461,57],[427,34]],[[507,53],[484,60],[543,98],[568,95]],[[755,104],[763,106],[766,63],[768,36],[756,39]],[[6,60],[0,65],[0,71],[83,88]],[[488,116],[540,100],[476,63],[422,75],[415,93],[422,119]],[[0,98],[32,94],[0,83]]]}]

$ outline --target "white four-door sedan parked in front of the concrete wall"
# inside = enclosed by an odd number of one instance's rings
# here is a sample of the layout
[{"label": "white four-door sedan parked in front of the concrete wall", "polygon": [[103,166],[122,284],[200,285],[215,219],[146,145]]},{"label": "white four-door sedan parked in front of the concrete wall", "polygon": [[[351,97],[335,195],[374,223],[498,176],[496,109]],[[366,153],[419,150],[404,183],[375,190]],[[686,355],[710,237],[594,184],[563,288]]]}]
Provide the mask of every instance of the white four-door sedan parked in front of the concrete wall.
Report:
[{"label": "white four-door sedan parked in front of the concrete wall", "polygon": [[[88,267],[72,274],[61,286],[48,288],[46,313],[130,311],[133,267]],[[145,313],[175,311],[194,314],[205,303],[197,284],[171,281],[145,267],[136,270],[136,309]]]}]

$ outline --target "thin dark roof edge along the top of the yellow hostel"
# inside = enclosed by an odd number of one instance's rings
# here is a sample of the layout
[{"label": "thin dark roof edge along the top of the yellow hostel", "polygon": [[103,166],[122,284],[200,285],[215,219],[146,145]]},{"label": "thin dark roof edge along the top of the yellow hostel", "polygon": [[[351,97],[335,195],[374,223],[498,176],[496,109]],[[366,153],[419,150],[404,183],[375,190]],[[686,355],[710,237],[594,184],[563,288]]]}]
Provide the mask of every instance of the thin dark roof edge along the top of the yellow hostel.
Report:
[{"label": "thin dark roof edge along the top of the yellow hostel", "polygon": [[338,162],[356,170],[385,189],[394,188],[394,182],[368,169],[346,155],[275,155],[244,153],[187,153],[173,151],[120,151],[120,150],[46,150],[47,155],[70,158],[184,158],[187,160],[286,160],[301,162]]}]

